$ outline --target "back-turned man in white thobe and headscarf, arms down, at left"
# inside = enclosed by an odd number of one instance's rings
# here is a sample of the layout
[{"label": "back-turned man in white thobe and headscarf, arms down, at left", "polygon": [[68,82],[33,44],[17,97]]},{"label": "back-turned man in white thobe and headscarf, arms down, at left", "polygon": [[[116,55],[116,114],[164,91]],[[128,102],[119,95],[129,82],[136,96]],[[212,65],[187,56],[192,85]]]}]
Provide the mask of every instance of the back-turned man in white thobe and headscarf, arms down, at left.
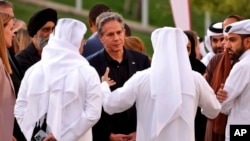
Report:
[{"label": "back-turned man in white thobe and headscarf, arms down, at left", "polygon": [[97,72],[79,52],[86,30],[78,20],[58,20],[41,61],[26,72],[15,117],[27,140],[39,121],[47,121],[48,140],[92,141],[91,127],[100,118],[102,93]]}]

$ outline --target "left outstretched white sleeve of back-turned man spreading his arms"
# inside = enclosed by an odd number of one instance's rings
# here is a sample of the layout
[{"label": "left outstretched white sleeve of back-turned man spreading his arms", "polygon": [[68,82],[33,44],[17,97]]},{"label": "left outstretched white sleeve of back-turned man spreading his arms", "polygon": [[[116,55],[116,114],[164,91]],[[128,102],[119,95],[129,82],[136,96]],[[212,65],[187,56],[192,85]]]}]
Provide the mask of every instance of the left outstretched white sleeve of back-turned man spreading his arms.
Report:
[{"label": "left outstretched white sleeve of back-turned man spreading his arms", "polygon": [[110,91],[106,82],[102,83],[103,108],[108,114],[123,112],[134,105],[136,100],[136,74],[123,87]]}]

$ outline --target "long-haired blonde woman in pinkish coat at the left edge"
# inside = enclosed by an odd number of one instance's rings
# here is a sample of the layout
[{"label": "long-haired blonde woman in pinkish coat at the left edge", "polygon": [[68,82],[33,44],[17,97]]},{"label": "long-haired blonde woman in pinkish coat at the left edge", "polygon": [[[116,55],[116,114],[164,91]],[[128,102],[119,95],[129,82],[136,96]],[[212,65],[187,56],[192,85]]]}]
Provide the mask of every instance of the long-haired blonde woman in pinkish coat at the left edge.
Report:
[{"label": "long-haired blonde woman in pinkish coat at the left edge", "polygon": [[14,37],[13,17],[0,12],[0,139],[15,140],[13,137],[15,91],[10,78],[12,73],[7,47],[12,45]]}]

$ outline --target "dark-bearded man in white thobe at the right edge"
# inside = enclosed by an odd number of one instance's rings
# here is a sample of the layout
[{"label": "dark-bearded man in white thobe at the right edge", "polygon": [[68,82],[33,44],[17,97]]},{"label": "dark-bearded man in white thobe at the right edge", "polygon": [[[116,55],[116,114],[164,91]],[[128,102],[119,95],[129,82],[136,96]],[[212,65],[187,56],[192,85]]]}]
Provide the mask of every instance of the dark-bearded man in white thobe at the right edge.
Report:
[{"label": "dark-bearded man in white thobe at the right edge", "polygon": [[227,94],[221,112],[228,115],[226,141],[229,141],[230,125],[250,124],[250,20],[226,26],[224,34],[225,47],[229,50],[230,57],[239,58],[239,62],[230,71],[224,88],[217,93],[220,101]]}]

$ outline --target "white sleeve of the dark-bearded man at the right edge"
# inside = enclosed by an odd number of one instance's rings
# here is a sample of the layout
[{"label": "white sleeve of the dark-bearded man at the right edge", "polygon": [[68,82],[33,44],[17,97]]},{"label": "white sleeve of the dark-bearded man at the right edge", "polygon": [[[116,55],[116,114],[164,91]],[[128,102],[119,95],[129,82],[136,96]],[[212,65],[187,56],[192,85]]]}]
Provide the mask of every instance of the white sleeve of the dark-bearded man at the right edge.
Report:
[{"label": "white sleeve of the dark-bearded man at the right edge", "polygon": [[228,98],[222,103],[222,113],[229,114],[234,106],[234,101],[244,91],[247,83],[249,83],[249,80],[246,79],[249,78],[246,76],[248,73],[245,73],[247,71],[249,71],[247,66],[240,64],[235,64],[231,70],[224,85],[224,90],[228,93]]}]

